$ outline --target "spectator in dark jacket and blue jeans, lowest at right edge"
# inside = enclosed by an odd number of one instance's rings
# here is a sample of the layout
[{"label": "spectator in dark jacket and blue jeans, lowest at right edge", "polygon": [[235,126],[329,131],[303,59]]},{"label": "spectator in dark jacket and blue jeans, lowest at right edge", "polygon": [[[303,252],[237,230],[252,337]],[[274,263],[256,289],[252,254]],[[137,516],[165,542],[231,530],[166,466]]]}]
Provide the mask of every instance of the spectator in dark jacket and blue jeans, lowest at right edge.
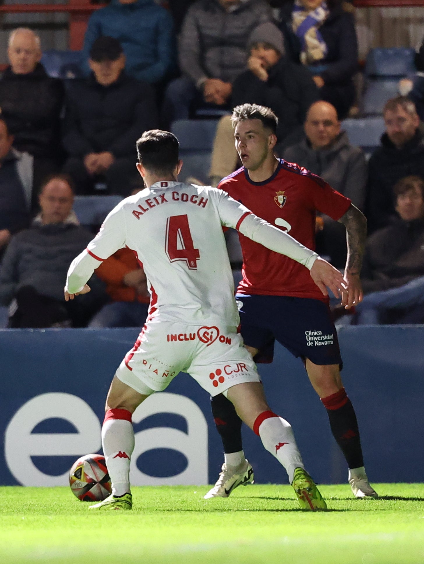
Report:
[{"label": "spectator in dark jacket and blue jeans, lowest at right edge", "polygon": [[424,180],[394,187],[396,219],[366,244],[357,323],[424,323]]}]

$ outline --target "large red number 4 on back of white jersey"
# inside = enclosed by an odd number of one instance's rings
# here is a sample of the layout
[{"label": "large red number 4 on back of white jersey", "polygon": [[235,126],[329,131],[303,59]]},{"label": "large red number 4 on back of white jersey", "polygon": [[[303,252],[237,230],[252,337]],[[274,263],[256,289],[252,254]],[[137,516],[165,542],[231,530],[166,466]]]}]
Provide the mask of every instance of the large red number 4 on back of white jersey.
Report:
[{"label": "large red number 4 on back of white jersey", "polygon": [[197,269],[200,252],[195,249],[186,215],[171,215],[166,220],[165,250],[171,262],[186,261],[190,270]]}]

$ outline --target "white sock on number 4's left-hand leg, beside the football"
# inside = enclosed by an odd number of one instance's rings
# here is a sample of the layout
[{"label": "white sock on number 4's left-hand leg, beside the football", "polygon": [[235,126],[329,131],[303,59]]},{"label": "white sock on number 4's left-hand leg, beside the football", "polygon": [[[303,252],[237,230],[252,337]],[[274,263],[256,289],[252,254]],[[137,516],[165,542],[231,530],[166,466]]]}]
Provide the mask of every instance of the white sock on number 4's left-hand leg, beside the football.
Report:
[{"label": "white sock on number 4's left-hand leg, beside the football", "polygon": [[113,495],[131,493],[130,461],[134,450],[134,429],[125,419],[108,419],[101,428],[101,444],[112,481]]}]

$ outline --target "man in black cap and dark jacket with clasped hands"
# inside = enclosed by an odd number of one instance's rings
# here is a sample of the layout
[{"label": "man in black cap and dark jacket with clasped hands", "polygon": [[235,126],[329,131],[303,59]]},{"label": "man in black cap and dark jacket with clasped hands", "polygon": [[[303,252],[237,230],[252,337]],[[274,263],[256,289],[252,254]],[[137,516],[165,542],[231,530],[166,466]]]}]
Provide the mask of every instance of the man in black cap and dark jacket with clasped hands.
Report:
[{"label": "man in black cap and dark jacket with clasped hands", "polygon": [[157,127],[152,87],[125,73],[125,55],[117,39],[99,37],[90,51],[88,78],[67,89],[63,143],[69,153],[64,171],[78,194],[107,186],[129,196],[135,168],[135,142]]}]

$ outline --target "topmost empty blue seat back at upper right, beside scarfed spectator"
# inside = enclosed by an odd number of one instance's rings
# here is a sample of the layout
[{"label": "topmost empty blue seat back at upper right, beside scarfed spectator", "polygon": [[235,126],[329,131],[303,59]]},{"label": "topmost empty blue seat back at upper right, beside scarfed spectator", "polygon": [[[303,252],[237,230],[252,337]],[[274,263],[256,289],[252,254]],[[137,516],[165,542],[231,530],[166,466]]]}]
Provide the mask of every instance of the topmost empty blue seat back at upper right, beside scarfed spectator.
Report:
[{"label": "topmost empty blue seat back at upper right, beside scarfed spectator", "polygon": [[413,49],[392,47],[391,49],[371,49],[366,56],[365,76],[403,77],[416,72]]}]

